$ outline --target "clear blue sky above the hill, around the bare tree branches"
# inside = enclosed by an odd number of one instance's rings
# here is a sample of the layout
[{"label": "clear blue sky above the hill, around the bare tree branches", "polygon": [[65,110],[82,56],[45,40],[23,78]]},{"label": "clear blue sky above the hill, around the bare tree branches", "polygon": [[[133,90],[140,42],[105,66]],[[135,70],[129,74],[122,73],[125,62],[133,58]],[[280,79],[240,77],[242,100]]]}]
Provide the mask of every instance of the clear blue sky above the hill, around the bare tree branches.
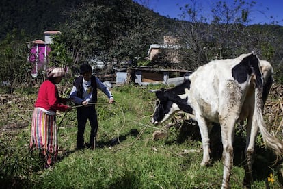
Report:
[{"label": "clear blue sky above the hill, around the bare tree branches", "polygon": [[[182,13],[180,7],[191,4],[192,0],[135,0],[138,3],[144,3],[150,10],[159,13],[162,16],[180,19]],[[221,0],[193,0],[203,10],[203,15],[209,18],[209,10],[213,3]],[[224,0],[223,0],[224,1]],[[231,4],[234,0],[226,0]],[[245,2],[256,2],[251,10],[250,24],[270,24],[272,21],[278,21],[278,25],[283,25],[283,0],[244,0]],[[214,6],[215,7],[215,6]],[[271,18],[272,16],[272,18]]]}]

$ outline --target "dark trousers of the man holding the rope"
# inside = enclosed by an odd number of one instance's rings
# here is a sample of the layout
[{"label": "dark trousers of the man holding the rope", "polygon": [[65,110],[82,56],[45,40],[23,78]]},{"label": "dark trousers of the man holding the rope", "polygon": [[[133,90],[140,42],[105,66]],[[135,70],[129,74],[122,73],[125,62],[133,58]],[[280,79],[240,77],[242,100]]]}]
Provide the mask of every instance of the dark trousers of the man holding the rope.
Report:
[{"label": "dark trousers of the man holding the rope", "polygon": [[84,144],[83,134],[85,133],[85,124],[87,119],[90,121],[90,145],[94,144],[94,137],[96,137],[98,129],[97,114],[94,105],[77,108],[77,149],[82,149]]}]

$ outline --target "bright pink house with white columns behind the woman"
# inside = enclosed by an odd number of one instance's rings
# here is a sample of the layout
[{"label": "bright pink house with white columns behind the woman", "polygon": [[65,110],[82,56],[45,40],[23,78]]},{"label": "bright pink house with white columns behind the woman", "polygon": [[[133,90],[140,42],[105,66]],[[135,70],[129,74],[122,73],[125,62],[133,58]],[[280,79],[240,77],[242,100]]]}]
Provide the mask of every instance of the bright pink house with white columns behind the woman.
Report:
[{"label": "bright pink house with white columns behind the woman", "polygon": [[33,69],[31,70],[32,77],[38,77],[40,71],[46,69],[46,64],[48,63],[48,53],[51,51],[49,45],[52,43],[52,37],[55,34],[61,34],[60,31],[45,31],[44,41],[43,40],[33,40],[32,42],[27,42],[27,47],[29,48],[28,60],[33,64]]}]

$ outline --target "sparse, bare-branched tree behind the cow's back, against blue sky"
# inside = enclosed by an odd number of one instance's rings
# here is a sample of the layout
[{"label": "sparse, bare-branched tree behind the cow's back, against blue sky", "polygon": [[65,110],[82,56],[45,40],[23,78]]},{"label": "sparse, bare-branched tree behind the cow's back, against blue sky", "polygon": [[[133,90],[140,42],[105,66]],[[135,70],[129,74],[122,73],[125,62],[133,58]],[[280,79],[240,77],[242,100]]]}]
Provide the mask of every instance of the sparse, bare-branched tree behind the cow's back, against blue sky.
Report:
[{"label": "sparse, bare-branched tree behind the cow's back, against blue sky", "polygon": [[235,58],[253,50],[260,58],[271,60],[273,34],[247,26],[251,10],[256,5],[254,1],[235,0],[230,5],[218,1],[212,6],[210,17],[202,16],[201,5],[196,2],[191,0],[191,4],[181,8],[183,18],[189,20],[183,23],[179,32],[183,36],[181,56],[185,68],[195,70],[215,58]]}]

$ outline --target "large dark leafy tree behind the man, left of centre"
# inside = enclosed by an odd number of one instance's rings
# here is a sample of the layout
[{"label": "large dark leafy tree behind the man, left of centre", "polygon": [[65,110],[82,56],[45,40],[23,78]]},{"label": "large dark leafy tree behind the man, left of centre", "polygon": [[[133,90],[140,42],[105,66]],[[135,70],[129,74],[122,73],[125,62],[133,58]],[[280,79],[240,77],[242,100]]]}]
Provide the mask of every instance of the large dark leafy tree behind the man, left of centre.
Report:
[{"label": "large dark leafy tree behind the man, left of centre", "polygon": [[161,41],[161,22],[154,15],[131,0],[83,3],[60,38],[72,55],[72,66],[96,58],[111,71],[113,64],[119,67],[146,56],[150,43]]}]

